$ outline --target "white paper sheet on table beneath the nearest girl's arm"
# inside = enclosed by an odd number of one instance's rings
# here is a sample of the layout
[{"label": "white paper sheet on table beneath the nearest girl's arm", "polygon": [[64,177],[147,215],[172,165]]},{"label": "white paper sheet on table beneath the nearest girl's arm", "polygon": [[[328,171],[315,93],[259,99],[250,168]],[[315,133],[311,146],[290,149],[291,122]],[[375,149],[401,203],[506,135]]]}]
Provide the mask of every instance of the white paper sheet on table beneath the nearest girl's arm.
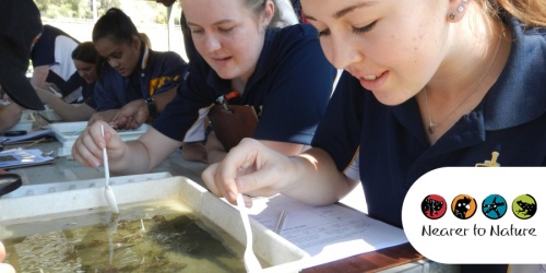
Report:
[{"label": "white paper sheet on table beneath the nearest girl's arm", "polygon": [[407,242],[401,228],[342,204],[311,206],[278,194],[254,199],[249,213],[274,230],[283,211],[278,234],[312,257],[307,266]]}]

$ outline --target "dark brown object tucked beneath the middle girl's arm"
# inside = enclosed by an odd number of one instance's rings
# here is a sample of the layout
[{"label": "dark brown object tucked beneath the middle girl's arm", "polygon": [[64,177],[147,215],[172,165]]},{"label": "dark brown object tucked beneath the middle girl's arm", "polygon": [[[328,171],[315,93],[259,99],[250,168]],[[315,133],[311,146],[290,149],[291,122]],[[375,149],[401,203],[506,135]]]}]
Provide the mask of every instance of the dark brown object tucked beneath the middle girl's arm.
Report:
[{"label": "dark brown object tucked beneath the middle girl's arm", "polygon": [[244,138],[252,138],[258,126],[254,107],[249,105],[215,105],[209,111],[209,119],[226,151]]}]

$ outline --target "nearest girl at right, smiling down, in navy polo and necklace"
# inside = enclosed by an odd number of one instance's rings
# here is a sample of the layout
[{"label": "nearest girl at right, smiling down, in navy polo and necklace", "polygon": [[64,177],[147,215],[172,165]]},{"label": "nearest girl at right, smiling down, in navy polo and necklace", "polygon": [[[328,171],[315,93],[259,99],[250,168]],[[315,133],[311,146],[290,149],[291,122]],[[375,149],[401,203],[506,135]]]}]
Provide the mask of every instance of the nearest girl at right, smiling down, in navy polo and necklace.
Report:
[{"label": "nearest girl at right, smiling down, in navy polo and necklace", "polygon": [[[404,197],[427,171],[495,151],[501,166],[546,164],[545,1],[301,4],[327,58],[345,70],[313,147],[287,157],[246,139],[203,173],[216,195],[280,192],[323,205],[361,181],[369,215],[401,227]],[[347,177],[354,163],[359,176]]]}]

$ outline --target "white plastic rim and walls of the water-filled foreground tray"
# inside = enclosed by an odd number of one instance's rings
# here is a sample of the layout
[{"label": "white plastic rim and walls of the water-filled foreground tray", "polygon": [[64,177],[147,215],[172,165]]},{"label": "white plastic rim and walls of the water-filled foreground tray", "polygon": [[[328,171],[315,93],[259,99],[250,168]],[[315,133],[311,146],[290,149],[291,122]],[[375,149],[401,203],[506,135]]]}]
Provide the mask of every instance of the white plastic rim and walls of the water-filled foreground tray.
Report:
[{"label": "white plastic rim and walls of the water-filled foreground tray", "polygon": [[[241,242],[246,241],[245,229],[237,209],[214,197],[200,185],[185,177],[135,181],[111,186],[119,205],[141,202],[183,203],[192,213],[204,217]],[[47,204],[47,205],[44,205]],[[48,225],[38,218],[62,217],[62,215],[87,215],[108,211],[104,188],[93,187],[49,194],[0,199],[0,239],[10,238],[15,230],[11,224]],[[263,272],[298,272],[309,254],[287,241],[273,230],[250,218],[253,246],[257,256],[271,266]],[[62,227],[59,227],[59,229]],[[22,230],[16,230],[22,233]]]}]

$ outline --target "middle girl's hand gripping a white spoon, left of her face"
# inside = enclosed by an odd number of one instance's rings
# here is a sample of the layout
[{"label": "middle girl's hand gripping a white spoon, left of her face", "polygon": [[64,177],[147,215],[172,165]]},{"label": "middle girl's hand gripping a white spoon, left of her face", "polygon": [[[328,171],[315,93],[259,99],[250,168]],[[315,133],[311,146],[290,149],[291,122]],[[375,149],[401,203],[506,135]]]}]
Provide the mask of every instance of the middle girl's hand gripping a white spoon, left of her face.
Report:
[{"label": "middle girl's hand gripping a white spoon, left of her face", "polygon": [[[104,136],[100,131],[104,126]],[[75,140],[72,146],[72,156],[87,167],[98,167],[103,164],[103,149],[106,147],[109,161],[120,158],[127,145],[118,132],[104,121],[96,121],[88,126]]]}]

